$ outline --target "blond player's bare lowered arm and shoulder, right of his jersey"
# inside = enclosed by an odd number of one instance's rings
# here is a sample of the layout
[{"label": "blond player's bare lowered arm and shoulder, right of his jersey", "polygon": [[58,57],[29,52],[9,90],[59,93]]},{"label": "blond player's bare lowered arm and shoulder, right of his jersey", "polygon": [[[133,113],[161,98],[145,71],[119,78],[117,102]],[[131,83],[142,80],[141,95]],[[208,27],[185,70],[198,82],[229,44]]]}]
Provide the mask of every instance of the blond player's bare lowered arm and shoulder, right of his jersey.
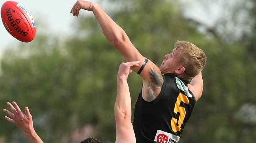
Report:
[{"label": "blond player's bare lowered arm and shoulder, right of his jersey", "polygon": [[202,96],[204,82],[202,78],[202,72],[192,78],[190,84],[188,84],[189,90],[194,94],[196,101]]}]

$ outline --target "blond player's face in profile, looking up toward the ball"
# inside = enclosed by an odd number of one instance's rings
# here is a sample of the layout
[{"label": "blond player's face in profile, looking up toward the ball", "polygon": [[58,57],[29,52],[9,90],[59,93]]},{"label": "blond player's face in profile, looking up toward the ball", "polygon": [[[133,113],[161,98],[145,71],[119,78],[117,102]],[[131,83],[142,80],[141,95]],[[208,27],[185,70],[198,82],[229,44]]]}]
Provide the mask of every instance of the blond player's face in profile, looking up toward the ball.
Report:
[{"label": "blond player's face in profile, looking up toward the ball", "polygon": [[180,52],[174,48],[170,54],[164,56],[164,60],[160,65],[160,70],[162,74],[166,73],[175,73],[175,70],[178,69],[178,59]]}]

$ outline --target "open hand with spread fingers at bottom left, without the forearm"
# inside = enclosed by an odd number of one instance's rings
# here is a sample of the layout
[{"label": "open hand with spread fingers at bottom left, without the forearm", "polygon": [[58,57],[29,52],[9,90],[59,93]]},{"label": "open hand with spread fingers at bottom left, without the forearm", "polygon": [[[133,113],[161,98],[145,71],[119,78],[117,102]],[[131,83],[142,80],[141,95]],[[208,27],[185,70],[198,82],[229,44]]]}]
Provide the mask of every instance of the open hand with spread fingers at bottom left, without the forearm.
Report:
[{"label": "open hand with spread fingers at bottom left, without the forearm", "polygon": [[25,114],[23,114],[17,103],[12,102],[11,104],[7,102],[7,105],[11,109],[11,111],[4,109],[4,112],[6,112],[10,117],[4,117],[7,121],[17,125],[17,127],[19,127],[21,130],[25,132],[34,129],[32,116],[29,112],[28,107],[25,107]]}]

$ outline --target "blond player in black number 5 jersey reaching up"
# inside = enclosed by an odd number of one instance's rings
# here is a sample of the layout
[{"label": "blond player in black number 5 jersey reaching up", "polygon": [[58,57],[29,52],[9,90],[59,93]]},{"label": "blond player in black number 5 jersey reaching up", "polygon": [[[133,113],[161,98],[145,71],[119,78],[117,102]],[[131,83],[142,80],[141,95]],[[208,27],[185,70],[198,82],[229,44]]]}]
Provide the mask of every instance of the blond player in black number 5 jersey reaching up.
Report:
[{"label": "blond player in black number 5 jersey reaching up", "polygon": [[192,43],[178,41],[157,67],[140,54],[123,29],[98,4],[78,0],[70,13],[78,16],[80,9],[93,11],[104,35],[126,62],[140,61],[133,68],[143,79],[133,123],[136,143],[177,143],[202,95],[204,52]]}]

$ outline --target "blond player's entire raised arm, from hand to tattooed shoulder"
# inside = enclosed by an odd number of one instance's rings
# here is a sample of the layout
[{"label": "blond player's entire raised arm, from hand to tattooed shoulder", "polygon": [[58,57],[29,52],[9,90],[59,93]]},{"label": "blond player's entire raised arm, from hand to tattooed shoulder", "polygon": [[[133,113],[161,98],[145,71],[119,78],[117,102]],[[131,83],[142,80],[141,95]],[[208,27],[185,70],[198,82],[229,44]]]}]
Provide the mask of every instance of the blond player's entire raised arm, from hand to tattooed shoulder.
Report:
[{"label": "blond player's entire raised arm, from hand to tattooed shoulder", "polygon": [[[138,63],[139,66],[133,68],[135,72],[138,72],[144,63],[145,57],[142,56],[131,43],[125,31],[123,31],[123,29],[108,16],[98,4],[94,2],[78,0],[70,13],[72,13],[73,16],[78,16],[80,9],[93,11],[101,25],[104,35],[112,46],[120,51],[126,62],[140,61],[140,63]],[[140,76],[143,79],[143,98],[147,101],[152,101],[158,96],[163,85],[161,71],[157,65],[148,60],[143,71],[140,73]]]}]

